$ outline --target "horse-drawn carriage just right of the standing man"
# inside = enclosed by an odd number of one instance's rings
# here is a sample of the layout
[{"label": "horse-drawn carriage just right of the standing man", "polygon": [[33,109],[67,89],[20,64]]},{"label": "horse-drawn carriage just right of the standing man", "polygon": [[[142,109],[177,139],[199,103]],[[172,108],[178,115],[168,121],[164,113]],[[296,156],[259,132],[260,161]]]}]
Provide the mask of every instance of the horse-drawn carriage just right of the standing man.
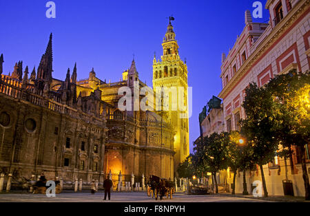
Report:
[{"label": "horse-drawn carriage just right of the standing man", "polygon": [[174,182],[170,180],[161,179],[158,176],[150,175],[149,182],[147,182],[147,196],[155,197],[158,199],[163,199],[165,195],[167,198],[170,197],[172,199],[172,195],[174,194]]}]

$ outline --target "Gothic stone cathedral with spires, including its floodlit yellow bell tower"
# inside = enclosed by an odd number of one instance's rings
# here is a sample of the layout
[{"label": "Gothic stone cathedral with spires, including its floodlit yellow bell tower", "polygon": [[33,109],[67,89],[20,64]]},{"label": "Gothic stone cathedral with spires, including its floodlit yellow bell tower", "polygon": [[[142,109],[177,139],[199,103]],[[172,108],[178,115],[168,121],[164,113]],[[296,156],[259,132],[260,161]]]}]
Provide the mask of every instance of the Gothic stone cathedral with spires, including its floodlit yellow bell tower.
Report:
[{"label": "Gothic stone cathedral with spires, including its floodlit yellow bell tower", "polygon": [[[153,87],[187,87],[187,66],[178,55],[171,22],[163,56],[153,61]],[[82,179],[141,182],[144,175],[171,178],[189,155],[188,118],[180,111],[121,111],[118,89],[145,87],[133,60],[116,83],[94,70],[77,80],[76,63],[65,80],[52,76],[52,34],[39,67],[29,74],[23,61],[3,74],[0,57],[0,173],[12,174],[12,186],[44,173],[48,180]],[[134,97],[134,95],[132,95]],[[140,96],[142,98],[142,96]],[[187,90],[185,90],[185,104]],[[184,112],[184,111],[183,111]],[[187,112],[187,111],[185,111]]]}]

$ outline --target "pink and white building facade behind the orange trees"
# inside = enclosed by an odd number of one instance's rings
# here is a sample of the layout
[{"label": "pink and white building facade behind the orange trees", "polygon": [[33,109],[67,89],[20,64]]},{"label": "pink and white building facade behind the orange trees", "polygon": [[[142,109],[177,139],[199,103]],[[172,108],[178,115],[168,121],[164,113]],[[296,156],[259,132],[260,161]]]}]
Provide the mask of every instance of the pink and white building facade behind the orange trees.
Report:
[{"label": "pink and white building facade behind the orange trees", "polygon": [[[251,82],[258,87],[268,83],[276,74],[291,69],[309,71],[310,64],[310,13],[308,0],[268,0],[269,23],[254,23],[251,12],[245,12],[245,28],[229,54],[222,56],[220,78],[223,89],[223,118],[225,131],[238,131],[238,120],[245,118],[242,101],[245,89]],[[309,149],[309,145],[306,149]],[[300,150],[293,149],[292,158],[275,157],[273,162],[263,166],[267,191],[271,195],[283,195],[282,180],[293,183],[297,196],[304,196]],[[310,171],[310,155],[307,151],[307,169]],[[286,165],[287,164],[287,165]],[[242,174],[236,177],[236,193],[242,193]],[[227,182],[232,183],[233,174],[227,171]],[[241,176],[241,177],[240,177]],[[249,183],[260,180],[260,171],[247,171]]]}]

